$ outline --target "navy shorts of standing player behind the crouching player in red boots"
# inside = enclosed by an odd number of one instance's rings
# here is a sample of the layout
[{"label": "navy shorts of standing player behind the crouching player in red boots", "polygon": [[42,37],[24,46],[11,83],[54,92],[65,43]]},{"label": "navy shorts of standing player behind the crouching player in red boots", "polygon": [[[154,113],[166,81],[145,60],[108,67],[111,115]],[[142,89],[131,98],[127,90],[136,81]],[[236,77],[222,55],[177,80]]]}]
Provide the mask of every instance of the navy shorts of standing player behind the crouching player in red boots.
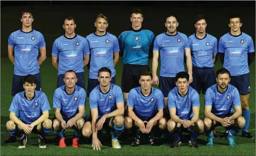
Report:
[{"label": "navy shorts of standing player behind the crouching player in red boots", "polygon": [[[76,85],[85,89],[85,72],[76,73],[76,77],[77,77]],[[63,78],[64,78],[64,74],[58,75],[57,88],[65,85]],[[86,89],[85,89],[85,91],[86,91]]]}]

